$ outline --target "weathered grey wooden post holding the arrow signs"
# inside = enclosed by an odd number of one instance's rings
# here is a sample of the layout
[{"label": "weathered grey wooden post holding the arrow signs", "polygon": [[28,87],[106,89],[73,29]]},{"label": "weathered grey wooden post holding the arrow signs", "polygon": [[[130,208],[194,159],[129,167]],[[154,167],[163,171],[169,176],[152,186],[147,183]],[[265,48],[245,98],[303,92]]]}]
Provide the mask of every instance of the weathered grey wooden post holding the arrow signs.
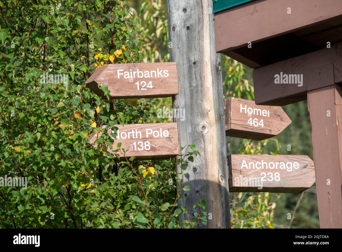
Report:
[{"label": "weathered grey wooden post holding the arrow signs", "polygon": [[[173,108],[186,111],[184,121],[175,118],[180,145],[195,144],[201,153],[186,170],[177,167],[179,173],[188,172],[182,187],[188,185],[190,189],[183,192],[178,207],[187,207],[191,217],[198,212],[194,204],[205,200],[212,219],[200,227],[229,228],[221,56],[215,52],[210,12],[211,0],[168,0],[170,58],[177,62],[179,82]],[[180,222],[185,218],[180,215]]]}]

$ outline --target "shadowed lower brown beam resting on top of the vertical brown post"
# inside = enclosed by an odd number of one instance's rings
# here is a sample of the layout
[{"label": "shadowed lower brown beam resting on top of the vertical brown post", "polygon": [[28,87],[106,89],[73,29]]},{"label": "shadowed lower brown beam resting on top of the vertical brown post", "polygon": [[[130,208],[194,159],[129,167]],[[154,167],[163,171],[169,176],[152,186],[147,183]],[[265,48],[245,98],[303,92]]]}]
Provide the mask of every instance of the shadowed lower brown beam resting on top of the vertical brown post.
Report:
[{"label": "shadowed lower brown beam resting on top of the vertical brown post", "polygon": [[[275,84],[275,75],[302,74],[303,86]],[[342,45],[253,70],[255,103],[283,106],[307,99],[307,91],[342,83]]]}]

